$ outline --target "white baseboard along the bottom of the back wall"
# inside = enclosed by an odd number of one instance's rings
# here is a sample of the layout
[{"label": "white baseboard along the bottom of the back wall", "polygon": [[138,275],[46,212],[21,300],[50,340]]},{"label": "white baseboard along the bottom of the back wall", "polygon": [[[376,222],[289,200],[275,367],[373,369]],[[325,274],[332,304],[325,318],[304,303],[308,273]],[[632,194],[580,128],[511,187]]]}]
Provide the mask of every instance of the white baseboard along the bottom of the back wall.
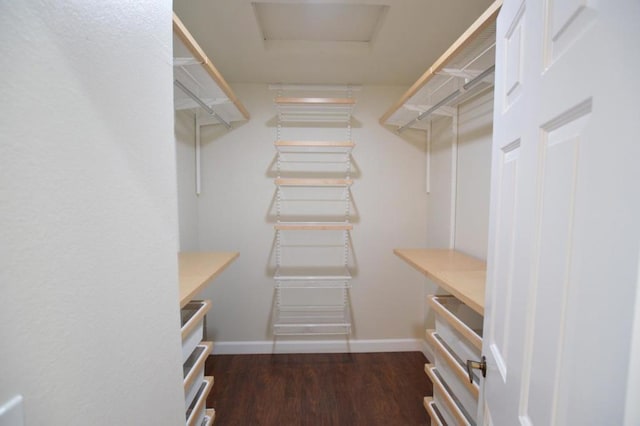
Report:
[{"label": "white baseboard along the bottom of the back wall", "polygon": [[[270,354],[270,353],[362,353],[362,352],[413,352],[425,354],[427,345],[423,339],[380,340],[275,340],[213,343],[214,355]],[[432,358],[429,358],[432,359]]]}]

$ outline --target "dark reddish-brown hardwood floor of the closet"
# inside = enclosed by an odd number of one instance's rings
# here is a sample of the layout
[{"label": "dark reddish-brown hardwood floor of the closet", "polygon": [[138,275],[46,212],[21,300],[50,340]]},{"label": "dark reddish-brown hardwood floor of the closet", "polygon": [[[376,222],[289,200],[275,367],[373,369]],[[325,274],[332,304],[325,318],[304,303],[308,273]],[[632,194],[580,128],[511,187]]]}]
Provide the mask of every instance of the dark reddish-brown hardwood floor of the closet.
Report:
[{"label": "dark reddish-brown hardwood floor of the closet", "polygon": [[215,426],[429,425],[420,352],[213,355]]}]

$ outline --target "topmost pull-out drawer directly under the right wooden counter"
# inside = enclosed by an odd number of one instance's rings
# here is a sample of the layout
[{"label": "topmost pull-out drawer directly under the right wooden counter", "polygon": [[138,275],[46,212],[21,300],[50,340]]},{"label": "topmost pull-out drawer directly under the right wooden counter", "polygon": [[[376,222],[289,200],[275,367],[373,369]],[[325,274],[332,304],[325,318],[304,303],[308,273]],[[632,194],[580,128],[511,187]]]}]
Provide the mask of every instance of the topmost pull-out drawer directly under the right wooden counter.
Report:
[{"label": "topmost pull-out drawer directly under the right wooden counter", "polygon": [[[436,331],[461,359],[479,359],[483,317],[453,296],[428,296]],[[459,352],[460,350],[460,352]]]}]

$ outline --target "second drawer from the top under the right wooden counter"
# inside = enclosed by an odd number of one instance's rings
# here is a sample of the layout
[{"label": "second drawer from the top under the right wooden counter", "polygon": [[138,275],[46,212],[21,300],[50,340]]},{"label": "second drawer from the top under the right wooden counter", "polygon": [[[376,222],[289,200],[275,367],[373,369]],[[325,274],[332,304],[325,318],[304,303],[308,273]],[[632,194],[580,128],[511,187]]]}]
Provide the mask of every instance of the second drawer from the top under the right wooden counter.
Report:
[{"label": "second drawer from the top under the right wooden counter", "polygon": [[480,393],[478,377],[474,377],[474,383],[469,382],[466,364],[463,364],[466,360],[460,360],[451,353],[434,330],[427,330],[427,342],[433,349],[435,366],[440,376],[464,409],[471,415],[475,415],[478,411]]}]

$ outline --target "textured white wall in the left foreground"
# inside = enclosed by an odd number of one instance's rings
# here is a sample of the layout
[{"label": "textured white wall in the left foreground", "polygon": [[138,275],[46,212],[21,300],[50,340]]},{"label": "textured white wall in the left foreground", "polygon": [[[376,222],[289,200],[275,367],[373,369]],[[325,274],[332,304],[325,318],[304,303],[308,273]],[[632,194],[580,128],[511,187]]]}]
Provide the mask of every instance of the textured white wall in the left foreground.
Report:
[{"label": "textured white wall in the left foreground", "polygon": [[0,3],[0,403],[184,422],[171,3]]}]

